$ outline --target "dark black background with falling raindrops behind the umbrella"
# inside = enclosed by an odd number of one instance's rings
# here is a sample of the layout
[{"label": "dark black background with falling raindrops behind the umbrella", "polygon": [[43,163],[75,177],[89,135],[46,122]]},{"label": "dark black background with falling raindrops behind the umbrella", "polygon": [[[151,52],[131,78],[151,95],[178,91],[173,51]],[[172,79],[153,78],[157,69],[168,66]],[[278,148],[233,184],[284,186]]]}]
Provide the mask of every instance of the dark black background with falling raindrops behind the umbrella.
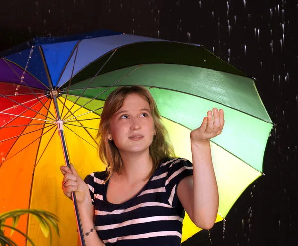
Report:
[{"label": "dark black background with falling raindrops behind the umbrella", "polygon": [[[230,26],[230,27],[229,27]],[[298,243],[297,0],[0,0],[0,50],[98,29],[202,44],[256,78],[276,124],[265,176],[211,230],[213,246]],[[252,153],[253,154],[253,153]],[[209,245],[208,231],[183,246]]]}]

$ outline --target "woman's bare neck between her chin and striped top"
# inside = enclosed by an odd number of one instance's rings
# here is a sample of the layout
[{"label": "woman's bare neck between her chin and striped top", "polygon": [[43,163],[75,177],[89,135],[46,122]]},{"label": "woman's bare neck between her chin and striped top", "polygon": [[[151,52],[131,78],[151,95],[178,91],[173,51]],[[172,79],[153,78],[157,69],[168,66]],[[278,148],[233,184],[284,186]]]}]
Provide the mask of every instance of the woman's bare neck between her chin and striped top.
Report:
[{"label": "woman's bare neck between her chin and striped top", "polygon": [[120,153],[123,161],[122,178],[128,181],[144,179],[152,170],[153,161],[149,151]]}]

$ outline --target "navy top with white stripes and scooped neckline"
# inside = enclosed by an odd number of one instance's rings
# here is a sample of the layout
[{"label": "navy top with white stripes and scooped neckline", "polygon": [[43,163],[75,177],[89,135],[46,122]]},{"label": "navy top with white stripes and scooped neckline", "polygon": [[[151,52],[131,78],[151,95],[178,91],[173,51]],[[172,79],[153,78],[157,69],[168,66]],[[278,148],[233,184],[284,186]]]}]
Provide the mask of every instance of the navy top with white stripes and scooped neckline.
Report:
[{"label": "navy top with white stripes and scooped neckline", "polygon": [[163,159],[143,189],[122,204],[107,201],[105,171],[88,175],[98,236],[106,246],[180,246],[185,211],[177,184],[192,174],[190,161]]}]

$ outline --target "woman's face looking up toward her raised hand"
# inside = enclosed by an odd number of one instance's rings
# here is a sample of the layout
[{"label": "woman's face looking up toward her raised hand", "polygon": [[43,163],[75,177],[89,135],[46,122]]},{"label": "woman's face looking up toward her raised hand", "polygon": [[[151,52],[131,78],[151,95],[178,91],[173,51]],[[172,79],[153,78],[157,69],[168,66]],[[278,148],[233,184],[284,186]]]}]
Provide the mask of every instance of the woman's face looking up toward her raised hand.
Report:
[{"label": "woman's face looking up toward her raised hand", "polygon": [[148,151],[156,133],[149,103],[136,93],[127,95],[111,119],[108,139],[121,153]]}]

